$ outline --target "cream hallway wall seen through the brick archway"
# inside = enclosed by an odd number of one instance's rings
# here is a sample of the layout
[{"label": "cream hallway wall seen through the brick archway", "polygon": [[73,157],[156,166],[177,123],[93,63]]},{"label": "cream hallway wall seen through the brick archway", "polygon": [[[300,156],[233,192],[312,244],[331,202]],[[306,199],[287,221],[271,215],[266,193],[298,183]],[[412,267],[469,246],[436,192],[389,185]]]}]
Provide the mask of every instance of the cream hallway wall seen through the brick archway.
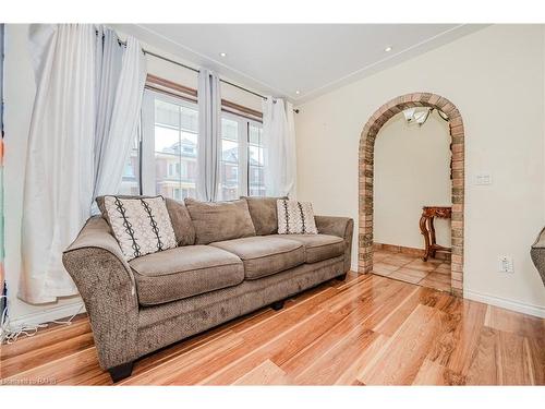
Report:
[{"label": "cream hallway wall seen through the brick archway", "polygon": [[[374,169],[374,241],[424,249],[422,206],[451,205],[450,135],[437,111],[419,127],[403,113],[378,132]],[[450,221],[434,221],[437,243],[450,246]]]}]

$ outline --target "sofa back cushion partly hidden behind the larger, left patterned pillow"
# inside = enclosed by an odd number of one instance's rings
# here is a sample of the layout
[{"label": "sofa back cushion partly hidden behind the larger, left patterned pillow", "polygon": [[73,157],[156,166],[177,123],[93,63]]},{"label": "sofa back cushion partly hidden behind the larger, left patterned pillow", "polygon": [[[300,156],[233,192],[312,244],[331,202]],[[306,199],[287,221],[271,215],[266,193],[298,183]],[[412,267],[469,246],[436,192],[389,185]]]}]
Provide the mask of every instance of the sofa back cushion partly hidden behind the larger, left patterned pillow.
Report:
[{"label": "sofa back cushion partly hidden behind the larger, left patterned pillow", "polygon": [[[137,195],[117,195],[120,199],[146,199],[153,196],[137,196]],[[102,217],[110,225],[110,220],[108,219],[108,214],[106,212],[106,207],[104,204],[105,196],[98,196],[96,199],[98,208],[102,214]],[[174,201],[173,199],[165,199],[167,204],[167,210],[170,216],[170,221],[172,224],[172,229],[174,230],[175,240],[178,245],[191,245],[195,244],[195,228],[193,227],[193,222],[191,221],[190,213],[187,208],[183,204],[183,202]],[[110,233],[113,231],[110,228]]]}]

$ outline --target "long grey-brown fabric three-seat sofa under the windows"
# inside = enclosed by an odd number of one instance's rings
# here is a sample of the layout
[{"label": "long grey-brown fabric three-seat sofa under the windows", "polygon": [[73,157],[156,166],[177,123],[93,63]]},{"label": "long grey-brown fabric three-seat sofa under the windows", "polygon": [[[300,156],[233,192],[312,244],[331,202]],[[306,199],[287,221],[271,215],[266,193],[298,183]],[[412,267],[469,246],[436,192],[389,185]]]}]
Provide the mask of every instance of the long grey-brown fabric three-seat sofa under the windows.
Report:
[{"label": "long grey-brown fabric three-seat sofa under the windows", "polygon": [[233,203],[203,213],[202,204],[167,199],[179,246],[130,262],[100,216],[65,250],[113,382],[130,376],[140,357],[263,306],[281,309],[286,298],[350,269],[352,219],[316,216],[318,234],[277,234],[276,199]]}]

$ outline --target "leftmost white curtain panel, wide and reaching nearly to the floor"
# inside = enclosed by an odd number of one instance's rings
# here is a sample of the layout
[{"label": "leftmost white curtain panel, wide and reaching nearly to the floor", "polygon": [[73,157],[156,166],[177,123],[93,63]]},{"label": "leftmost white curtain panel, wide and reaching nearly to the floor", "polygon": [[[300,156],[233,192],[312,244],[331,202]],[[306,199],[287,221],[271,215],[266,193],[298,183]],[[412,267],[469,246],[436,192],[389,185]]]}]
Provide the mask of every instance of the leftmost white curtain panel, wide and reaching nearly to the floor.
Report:
[{"label": "leftmost white curtain panel, wide and reaching nearly to the floor", "polygon": [[95,28],[32,26],[37,92],[28,135],[19,296],[77,293],[61,256],[89,216],[95,141]]}]

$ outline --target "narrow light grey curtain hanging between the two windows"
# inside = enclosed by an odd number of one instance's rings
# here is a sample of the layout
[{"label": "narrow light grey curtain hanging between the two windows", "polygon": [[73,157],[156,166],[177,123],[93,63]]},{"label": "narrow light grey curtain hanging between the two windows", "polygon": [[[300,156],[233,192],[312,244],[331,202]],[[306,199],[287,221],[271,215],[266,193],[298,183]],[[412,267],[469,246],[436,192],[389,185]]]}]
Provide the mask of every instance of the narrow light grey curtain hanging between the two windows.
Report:
[{"label": "narrow light grey curtain hanging between the two windows", "polygon": [[221,95],[216,73],[202,69],[198,74],[197,195],[217,200],[221,159]]}]

